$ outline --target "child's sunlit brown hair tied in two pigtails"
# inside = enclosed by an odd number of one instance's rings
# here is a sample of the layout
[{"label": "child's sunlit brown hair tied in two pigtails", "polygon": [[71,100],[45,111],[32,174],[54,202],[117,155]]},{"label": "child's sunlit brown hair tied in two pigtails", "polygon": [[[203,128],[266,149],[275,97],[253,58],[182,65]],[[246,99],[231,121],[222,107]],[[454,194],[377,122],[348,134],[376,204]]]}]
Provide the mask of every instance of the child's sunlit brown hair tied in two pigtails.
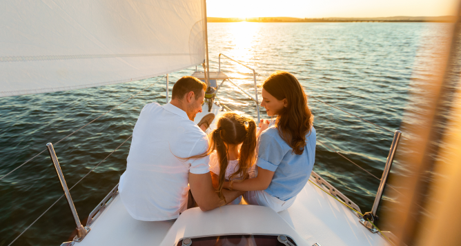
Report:
[{"label": "child's sunlit brown hair tied in two pigtails", "polygon": [[[245,123],[248,123],[246,126]],[[217,193],[219,198],[222,198],[227,203],[226,198],[222,194],[222,186],[226,181],[226,169],[228,166],[227,148],[226,144],[239,145],[239,169],[229,176],[229,181],[232,185],[233,182],[241,182],[248,178],[248,170],[255,163],[255,149],[256,149],[256,123],[253,119],[239,116],[233,112],[223,114],[217,121],[217,129],[209,135],[210,145],[208,150],[203,154],[190,156],[189,158],[202,158],[208,156],[213,151],[217,152],[217,159],[219,161],[219,184]],[[237,180],[235,177],[240,176],[241,179]]]}]

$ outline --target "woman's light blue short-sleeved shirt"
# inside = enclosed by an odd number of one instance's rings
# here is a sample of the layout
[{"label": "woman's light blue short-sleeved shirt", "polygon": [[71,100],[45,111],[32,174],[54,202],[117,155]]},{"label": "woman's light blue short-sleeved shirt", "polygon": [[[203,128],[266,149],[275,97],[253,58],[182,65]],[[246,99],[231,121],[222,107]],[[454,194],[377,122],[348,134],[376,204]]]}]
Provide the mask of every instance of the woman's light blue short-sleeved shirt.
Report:
[{"label": "woman's light blue short-sleeved shirt", "polygon": [[306,135],[302,154],[292,152],[279,135],[277,127],[271,126],[259,136],[256,165],[275,172],[265,192],[287,201],[301,192],[311,175],[315,161],[315,128]]}]

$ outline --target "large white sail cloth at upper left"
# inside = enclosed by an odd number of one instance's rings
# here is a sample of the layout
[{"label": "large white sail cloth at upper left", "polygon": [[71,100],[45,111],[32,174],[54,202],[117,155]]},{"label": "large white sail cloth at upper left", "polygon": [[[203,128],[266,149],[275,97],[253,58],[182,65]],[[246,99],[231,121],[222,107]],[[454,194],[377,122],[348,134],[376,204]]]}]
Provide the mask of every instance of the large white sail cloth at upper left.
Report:
[{"label": "large white sail cloth at upper left", "polygon": [[2,0],[0,97],[136,81],[204,62],[204,0]]}]

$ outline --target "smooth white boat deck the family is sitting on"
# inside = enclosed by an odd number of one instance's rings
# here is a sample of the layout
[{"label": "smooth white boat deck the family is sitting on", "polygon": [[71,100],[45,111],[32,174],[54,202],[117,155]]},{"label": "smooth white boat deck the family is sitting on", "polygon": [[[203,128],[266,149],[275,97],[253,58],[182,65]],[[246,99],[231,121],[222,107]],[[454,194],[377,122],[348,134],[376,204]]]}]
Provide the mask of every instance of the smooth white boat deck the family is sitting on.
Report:
[{"label": "smooth white boat deck the family is sitting on", "polygon": [[[213,105],[213,113],[224,113],[219,110]],[[208,114],[207,105],[195,121],[204,114]],[[380,235],[361,225],[349,208],[311,182],[290,208],[278,214],[267,207],[226,205],[209,212],[188,209],[172,221],[137,221],[117,196],[92,223],[86,238],[75,245],[173,246],[179,238],[219,234],[287,234],[297,245],[308,246],[388,245]]]}]

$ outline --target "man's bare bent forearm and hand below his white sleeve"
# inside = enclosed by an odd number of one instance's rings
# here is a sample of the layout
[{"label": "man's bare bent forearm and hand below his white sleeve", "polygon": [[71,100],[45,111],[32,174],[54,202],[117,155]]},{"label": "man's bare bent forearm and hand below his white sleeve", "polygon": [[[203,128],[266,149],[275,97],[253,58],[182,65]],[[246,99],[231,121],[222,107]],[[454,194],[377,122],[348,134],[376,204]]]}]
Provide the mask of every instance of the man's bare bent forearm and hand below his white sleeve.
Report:
[{"label": "man's bare bent forearm and hand below his white sleeve", "polygon": [[[208,172],[206,174],[189,173],[189,186],[195,202],[197,202],[197,205],[199,205],[202,211],[208,211],[222,205],[226,205],[226,203],[219,198],[216,190],[213,188],[211,175]],[[237,190],[230,191],[222,189],[222,194],[224,194],[227,202],[234,201],[235,198],[242,196],[244,193],[245,192]]]}]

